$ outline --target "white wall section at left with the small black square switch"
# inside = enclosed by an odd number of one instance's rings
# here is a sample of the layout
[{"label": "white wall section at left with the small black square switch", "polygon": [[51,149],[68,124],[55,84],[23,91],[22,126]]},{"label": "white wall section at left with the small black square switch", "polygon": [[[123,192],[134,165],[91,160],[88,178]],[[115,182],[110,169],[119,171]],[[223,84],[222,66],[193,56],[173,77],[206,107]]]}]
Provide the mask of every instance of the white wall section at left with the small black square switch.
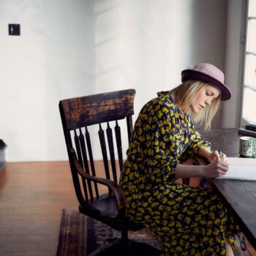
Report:
[{"label": "white wall section at left with the small black square switch", "polygon": [[[59,99],[94,86],[92,1],[0,1],[0,137],[7,161],[67,158]],[[21,35],[8,36],[8,23]]]}]

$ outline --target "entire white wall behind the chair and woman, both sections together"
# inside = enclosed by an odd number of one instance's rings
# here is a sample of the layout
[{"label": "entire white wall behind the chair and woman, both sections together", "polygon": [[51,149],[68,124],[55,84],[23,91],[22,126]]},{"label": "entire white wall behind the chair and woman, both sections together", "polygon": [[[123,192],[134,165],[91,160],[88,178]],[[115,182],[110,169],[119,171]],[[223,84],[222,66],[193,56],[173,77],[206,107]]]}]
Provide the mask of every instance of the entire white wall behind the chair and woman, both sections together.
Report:
[{"label": "entire white wall behind the chair and woman, both sections together", "polygon": [[[7,161],[67,159],[60,99],[134,88],[136,117],[182,69],[224,69],[226,13],[222,0],[0,0]],[[20,37],[8,23],[20,23]]]}]

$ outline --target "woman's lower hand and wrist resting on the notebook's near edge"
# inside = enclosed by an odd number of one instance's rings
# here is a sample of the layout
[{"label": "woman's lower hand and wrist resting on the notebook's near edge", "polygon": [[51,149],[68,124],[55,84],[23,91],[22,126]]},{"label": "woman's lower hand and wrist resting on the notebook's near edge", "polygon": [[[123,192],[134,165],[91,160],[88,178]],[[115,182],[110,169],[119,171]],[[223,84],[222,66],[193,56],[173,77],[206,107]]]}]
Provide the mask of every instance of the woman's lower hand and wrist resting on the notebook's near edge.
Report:
[{"label": "woman's lower hand and wrist resting on the notebook's near edge", "polygon": [[208,178],[223,176],[227,173],[228,170],[228,164],[219,160],[209,165],[204,165],[202,167],[202,176]]}]

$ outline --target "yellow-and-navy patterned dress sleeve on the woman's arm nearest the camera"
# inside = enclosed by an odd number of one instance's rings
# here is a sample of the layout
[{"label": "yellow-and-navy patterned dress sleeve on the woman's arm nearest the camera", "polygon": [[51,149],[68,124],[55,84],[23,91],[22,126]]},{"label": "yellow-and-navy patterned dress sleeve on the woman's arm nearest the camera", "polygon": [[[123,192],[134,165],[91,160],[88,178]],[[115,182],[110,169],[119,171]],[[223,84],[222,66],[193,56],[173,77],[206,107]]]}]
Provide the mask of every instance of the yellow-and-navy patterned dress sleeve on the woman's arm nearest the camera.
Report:
[{"label": "yellow-and-navy patterned dress sleeve on the woman's arm nearest the camera", "polygon": [[[154,114],[146,136],[146,159],[150,182],[165,183],[176,178],[176,145],[173,145],[171,108],[161,108]],[[175,118],[173,118],[174,121]]]}]

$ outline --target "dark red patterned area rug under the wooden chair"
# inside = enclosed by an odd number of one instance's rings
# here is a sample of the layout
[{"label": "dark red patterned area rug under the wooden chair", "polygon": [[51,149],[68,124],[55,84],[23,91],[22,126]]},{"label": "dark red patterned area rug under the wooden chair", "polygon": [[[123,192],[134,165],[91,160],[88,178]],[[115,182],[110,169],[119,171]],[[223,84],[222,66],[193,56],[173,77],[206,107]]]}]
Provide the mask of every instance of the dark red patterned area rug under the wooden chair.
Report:
[{"label": "dark red patterned area rug under the wooden chair", "polygon": [[[59,245],[57,256],[87,256],[99,246],[104,246],[121,233],[98,222],[95,219],[80,214],[78,208],[64,208],[62,210],[61,227],[59,232]],[[143,243],[158,246],[157,241],[148,229],[129,232],[129,238]],[[236,243],[238,244],[238,243]],[[236,246],[236,256],[249,256]]]}]

